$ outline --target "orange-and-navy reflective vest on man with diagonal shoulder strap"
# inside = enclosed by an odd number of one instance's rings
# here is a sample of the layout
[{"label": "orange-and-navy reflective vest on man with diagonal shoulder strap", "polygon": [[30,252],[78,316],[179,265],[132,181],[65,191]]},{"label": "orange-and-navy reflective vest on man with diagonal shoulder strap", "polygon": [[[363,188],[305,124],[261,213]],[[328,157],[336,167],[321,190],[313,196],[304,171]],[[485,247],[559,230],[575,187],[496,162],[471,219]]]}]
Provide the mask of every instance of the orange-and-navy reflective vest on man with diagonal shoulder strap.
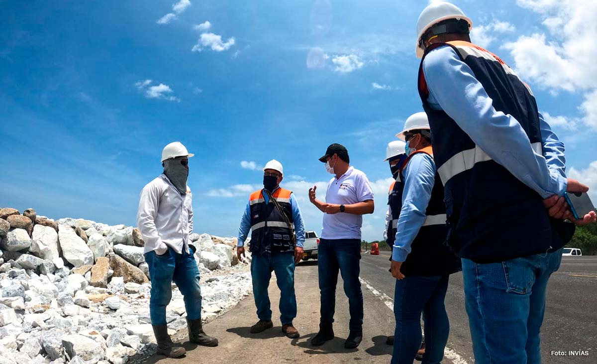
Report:
[{"label": "orange-and-navy reflective vest on man with diagonal shoulder strap", "polygon": [[[291,231],[282,215],[270,200],[268,203],[263,198],[263,189],[255,191],[249,197],[251,209],[251,253],[281,253],[292,252],[294,246],[291,240]],[[278,188],[272,197],[284,210],[286,216],[293,223],[293,210],[290,204],[288,189]]]}]

